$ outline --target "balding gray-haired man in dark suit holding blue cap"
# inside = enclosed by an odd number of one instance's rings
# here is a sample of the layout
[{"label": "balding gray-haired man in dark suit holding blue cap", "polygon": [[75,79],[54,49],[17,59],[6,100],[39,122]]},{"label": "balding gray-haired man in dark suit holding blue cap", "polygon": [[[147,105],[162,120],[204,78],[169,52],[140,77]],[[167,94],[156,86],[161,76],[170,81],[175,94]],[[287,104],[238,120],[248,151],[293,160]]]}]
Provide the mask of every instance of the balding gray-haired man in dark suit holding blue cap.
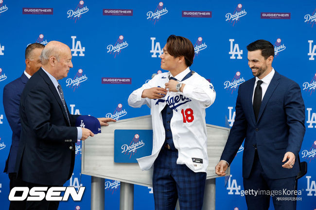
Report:
[{"label": "balding gray-haired man in dark suit holding blue cap", "polygon": [[[41,54],[42,67],[26,84],[21,96],[21,138],[16,169],[18,177],[32,187],[62,186],[72,175],[77,139],[94,133],[74,127],[79,115],[66,105],[58,80],[67,77],[71,63],[70,48],[49,42]],[[115,120],[98,118],[101,126]],[[59,201],[27,201],[26,209],[57,210]]]}]

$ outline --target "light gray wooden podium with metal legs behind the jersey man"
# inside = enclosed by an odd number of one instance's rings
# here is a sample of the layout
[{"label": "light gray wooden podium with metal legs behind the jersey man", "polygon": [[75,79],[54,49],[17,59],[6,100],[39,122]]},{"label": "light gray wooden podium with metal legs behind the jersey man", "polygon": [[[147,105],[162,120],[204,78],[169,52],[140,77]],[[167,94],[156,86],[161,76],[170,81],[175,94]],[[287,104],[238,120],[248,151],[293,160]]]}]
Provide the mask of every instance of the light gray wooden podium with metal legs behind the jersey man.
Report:
[{"label": "light gray wooden podium with metal legs behind the jersey man", "polygon": [[[215,166],[224,150],[229,129],[206,125],[209,166],[203,210],[215,210]],[[121,181],[120,210],[133,210],[134,184],[152,187],[153,169],[141,171],[138,163],[114,162],[114,130],[152,129],[151,115],[118,120],[101,127],[101,133],[82,142],[81,173],[91,176],[91,210],[104,210],[105,178]],[[230,168],[227,169],[230,174]],[[178,205],[177,205],[178,209]]]}]

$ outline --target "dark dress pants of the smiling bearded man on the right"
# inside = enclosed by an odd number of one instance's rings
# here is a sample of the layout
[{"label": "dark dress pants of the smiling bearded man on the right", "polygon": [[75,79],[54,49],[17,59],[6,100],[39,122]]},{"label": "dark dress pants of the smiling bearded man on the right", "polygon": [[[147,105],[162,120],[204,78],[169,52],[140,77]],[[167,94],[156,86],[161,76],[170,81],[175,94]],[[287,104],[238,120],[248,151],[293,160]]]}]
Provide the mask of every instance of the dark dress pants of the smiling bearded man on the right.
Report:
[{"label": "dark dress pants of the smiling bearded man on the right", "polygon": [[[250,176],[244,178],[245,191],[252,192],[252,194],[246,195],[248,210],[268,210],[270,196],[272,196],[275,210],[296,210],[296,195],[289,193],[295,190],[295,178],[268,178],[263,171],[256,150]],[[255,195],[255,191],[257,195]]]}]

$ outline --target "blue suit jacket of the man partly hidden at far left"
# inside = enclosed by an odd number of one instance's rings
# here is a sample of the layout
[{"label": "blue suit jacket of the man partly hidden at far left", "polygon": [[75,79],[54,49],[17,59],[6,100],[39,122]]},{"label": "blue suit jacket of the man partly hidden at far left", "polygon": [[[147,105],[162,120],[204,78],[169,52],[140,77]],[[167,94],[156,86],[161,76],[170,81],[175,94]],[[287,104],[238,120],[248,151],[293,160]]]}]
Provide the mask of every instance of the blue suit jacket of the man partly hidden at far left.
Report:
[{"label": "blue suit jacket of the man partly hidden at far left", "polygon": [[8,159],[5,162],[4,173],[15,173],[15,165],[20,141],[21,121],[19,115],[20,98],[26,82],[29,79],[23,73],[15,81],[11,81],[3,88],[3,108],[5,116],[12,129],[12,144]]}]

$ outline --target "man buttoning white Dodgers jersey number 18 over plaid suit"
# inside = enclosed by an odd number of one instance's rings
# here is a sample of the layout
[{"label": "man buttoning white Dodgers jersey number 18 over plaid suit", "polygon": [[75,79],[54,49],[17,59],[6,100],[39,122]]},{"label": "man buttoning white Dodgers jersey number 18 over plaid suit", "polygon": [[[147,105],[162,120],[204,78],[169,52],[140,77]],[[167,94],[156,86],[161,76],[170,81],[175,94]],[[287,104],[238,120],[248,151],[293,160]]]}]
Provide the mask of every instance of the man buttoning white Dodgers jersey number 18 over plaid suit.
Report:
[{"label": "man buttoning white Dodgers jersey number 18 over plaid suit", "polygon": [[171,35],[158,74],[128,98],[132,107],[147,104],[153,124],[152,155],[138,159],[142,170],[154,164],[155,210],[201,210],[208,166],[205,109],[214,102],[213,85],[190,70],[194,48]]}]

